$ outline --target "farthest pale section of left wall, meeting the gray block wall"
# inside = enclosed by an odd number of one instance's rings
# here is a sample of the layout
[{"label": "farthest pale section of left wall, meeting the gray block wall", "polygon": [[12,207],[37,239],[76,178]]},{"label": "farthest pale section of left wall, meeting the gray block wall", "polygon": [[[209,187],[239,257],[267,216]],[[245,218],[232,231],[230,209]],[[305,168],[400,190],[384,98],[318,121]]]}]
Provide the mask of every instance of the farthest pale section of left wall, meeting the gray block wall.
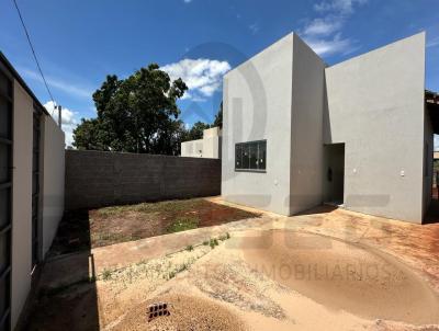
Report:
[{"label": "farthest pale section of left wall, meeting the gray block wall", "polygon": [[43,115],[43,256],[50,248],[64,214],[65,136]]}]

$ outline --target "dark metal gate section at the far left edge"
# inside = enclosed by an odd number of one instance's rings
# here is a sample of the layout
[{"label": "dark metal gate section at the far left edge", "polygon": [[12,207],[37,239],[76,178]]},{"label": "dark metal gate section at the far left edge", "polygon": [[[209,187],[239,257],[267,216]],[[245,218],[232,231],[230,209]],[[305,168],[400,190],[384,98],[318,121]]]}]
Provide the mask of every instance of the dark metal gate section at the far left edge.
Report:
[{"label": "dark metal gate section at the far left edge", "polygon": [[13,85],[0,67],[0,330],[11,328]]}]

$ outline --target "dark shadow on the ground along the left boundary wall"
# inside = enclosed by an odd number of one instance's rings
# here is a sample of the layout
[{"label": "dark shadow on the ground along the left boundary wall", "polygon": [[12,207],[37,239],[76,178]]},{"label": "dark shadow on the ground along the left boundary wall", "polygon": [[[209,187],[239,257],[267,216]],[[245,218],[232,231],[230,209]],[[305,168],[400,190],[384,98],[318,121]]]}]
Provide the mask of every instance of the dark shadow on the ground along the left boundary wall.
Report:
[{"label": "dark shadow on the ground along the left boundary wall", "polygon": [[68,212],[42,266],[22,330],[99,330],[88,210]]}]

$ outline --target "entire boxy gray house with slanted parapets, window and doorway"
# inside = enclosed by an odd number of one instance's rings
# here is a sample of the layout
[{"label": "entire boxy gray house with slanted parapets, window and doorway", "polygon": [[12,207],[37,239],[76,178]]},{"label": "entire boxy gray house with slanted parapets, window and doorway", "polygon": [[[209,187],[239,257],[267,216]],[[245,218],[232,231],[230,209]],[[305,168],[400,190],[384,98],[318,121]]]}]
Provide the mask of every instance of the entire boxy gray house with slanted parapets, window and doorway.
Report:
[{"label": "entire boxy gray house with slanted parapets, window and doorway", "polygon": [[224,198],[283,215],[333,203],[421,222],[439,133],[425,39],[328,67],[293,33],[229,71]]}]

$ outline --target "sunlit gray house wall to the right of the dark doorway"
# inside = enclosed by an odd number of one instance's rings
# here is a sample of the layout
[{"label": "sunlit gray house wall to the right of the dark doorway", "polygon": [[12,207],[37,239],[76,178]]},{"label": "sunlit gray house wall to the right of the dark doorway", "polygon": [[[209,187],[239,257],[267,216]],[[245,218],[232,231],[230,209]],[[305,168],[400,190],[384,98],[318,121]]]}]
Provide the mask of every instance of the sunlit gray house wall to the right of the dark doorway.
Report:
[{"label": "sunlit gray house wall to the right of the dark doorway", "polygon": [[425,34],[327,68],[326,144],[345,142],[345,206],[420,222]]}]

